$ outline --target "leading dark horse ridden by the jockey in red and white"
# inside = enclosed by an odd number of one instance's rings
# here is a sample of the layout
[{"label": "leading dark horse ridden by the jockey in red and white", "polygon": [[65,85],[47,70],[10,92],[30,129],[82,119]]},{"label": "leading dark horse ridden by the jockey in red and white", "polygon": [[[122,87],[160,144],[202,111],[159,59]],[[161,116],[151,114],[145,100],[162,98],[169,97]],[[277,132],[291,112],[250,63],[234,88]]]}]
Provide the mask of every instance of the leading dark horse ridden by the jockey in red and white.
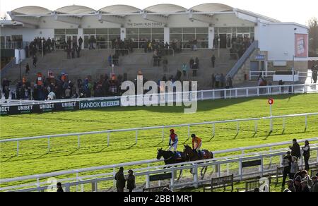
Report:
[{"label": "leading dark horse ridden by the jockey in red and white", "polygon": [[[178,163],[189,161],[189,159],[187,159],[187,155],[185,155],[184,152],[177,152],[177,154],[176,154],[176,153],[171,152],[171,151],[165,151],[165,150],[163,150],[163,148],[159,149],[158,154],[157,154],[158,160],[161,159],[161,157],[163,157],[163,159],[165,159],[165,165],[178,164]],[[182,175],[182,170],[180,170],[178,180],[180,179],[181,175]]]}]

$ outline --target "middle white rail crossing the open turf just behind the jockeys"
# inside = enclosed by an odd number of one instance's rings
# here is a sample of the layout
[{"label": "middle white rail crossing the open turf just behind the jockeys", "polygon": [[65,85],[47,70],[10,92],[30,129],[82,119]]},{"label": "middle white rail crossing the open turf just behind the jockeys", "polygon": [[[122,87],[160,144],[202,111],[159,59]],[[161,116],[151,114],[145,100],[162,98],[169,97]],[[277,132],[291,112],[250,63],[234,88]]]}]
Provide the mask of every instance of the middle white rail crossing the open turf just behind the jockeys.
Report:
[{"label": "middle white rail crossing the open turf just behind the jockeys", "polygon": [[145,128],[126,128],[126,129],[118,129],[118,130],[108,130],[108,131],[93,131],[93,132],[86,132],[86,133],[69,133],[69,134],[58,134],[58,135],[42,135],[37,137],[27,137],[27,138],[11,138],[6,140],[0,140],[0,143],[10,143],[10,142],[16,142],[16,156],[18,157],[20,152],[20,143],[27,140],[39,140],[39,139],[47,139],[47,152],[50,152],[51,150],[51,144],[50,140],[52,138],[65,138],[70,136],[77,136],[77,144],[78,148],[81,147],[81,136],[83,135],[97,135],[97,134],[107,134],[107,147],[110,146],[110,135],[111,133],[120,133],[120,132],[135,132],[135,144],[138,143],[139,139],[139,131],[148,131],[148,130],[155,130],[160,129],[161,130],[161,138],[164,141],[165,139],[165,129],[167,128],[187,128],[187,140],[190,139],[191,135],[191,126],[212,126],[212,136],[215,137],[216,135],[216,124],[221,123],[237,123],[236,131],[237,134],[240,133],[240,122],[247,122],[247,121],[254,121],[254,132],[257,133],[259,121],[261,120],[270,120],[269,122],[269,129],[270,131],[273,131],[273,119],[283,119],[283,130],[285,130],[285,121],[288,118],[295,118],[295,117],[305,117],[304,120],[304,126],[305,130],[307,130],[308,127],[308,116],[317,116],[318,113],[307,113],[307,114],[288,114],[288,115],[282,115],[282,116],[267,116],[267,117],[260,117],[260,118],[252,118],[252,119],[232,119],[232,120],[225,120],[225,121],[209,121],[209,122],[201,122],[201,123],[185,123],[185,124],[179,124],[179,125],[170,125],[170,126],[151,126],[151,127],[145,127]]}]

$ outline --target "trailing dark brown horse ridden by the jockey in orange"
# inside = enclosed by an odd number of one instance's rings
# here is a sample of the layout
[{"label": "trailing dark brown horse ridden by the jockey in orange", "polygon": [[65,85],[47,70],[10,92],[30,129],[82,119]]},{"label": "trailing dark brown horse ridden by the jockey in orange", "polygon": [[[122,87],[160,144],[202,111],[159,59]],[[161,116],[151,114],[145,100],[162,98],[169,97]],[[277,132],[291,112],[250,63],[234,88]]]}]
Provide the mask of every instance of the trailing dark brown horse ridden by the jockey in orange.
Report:
[{"label": "trailing dark brown horse ridden by the jockey in orange", "polygon": [[[203,159],[213,159],[213,153],[208,150],[201,150],[201,157],[199,157],[199,153],[195,150],[192,150],[192,147],[189,145],[184,145],[184,154],[186,154],[187,159],[189,162],[195,162],[198,160]],[[204,166],[204,168],[201,169],[201,179],[204,178],[204,175],[206,174],[206,170],[208,169],[208,166]],[[204,171],[204,173],[203,173]]]}]

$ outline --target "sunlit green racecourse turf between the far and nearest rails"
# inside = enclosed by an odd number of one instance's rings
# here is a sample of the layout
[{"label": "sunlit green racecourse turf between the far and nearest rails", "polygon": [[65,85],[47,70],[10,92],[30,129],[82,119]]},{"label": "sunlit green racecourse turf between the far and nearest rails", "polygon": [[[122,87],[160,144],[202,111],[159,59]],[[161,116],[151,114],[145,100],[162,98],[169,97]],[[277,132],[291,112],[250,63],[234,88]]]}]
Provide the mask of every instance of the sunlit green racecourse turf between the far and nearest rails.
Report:
[{"label": "sunlit green racecourse turf between the far and nearest rails", "polygon": [[[273,115],[301,114],[316,112],[318,95],[293,95],[276,97]],[[182,107],[129,107],[108,108],[87,111],[65,111],[50,114],[25,114],[1,116],[1,139],[57,133],[102,131],[108,129],[162,126],[179,123],[195,123],[226,119],[243,119],[269,116],[268,97],[245,99],[221,99],[199,102],[196,114],[183,114]],[[191,133],[203,139],[203,147],[208,150],[224,150],[233,147],[275,143],[292,138],[312,138],[318,136],[318,116],[288,119],[282,131],[282,121],[274,121],[274,131],[269,133],[269,121],[259,122],[259,132],[254,134],[254,122],[242,123],[236,135],[236,123],[216,125],[216,136],[212,138],[211,126],[194,126]],[[135,143],[135,133],[115,133],[107,135],[86,135],[81,138],[81,148],[77,149],[77,137],[51,140],[51,151],[47,153],[47,140],[30,140],[20,143],[20,155],[16,157],[16,143],[0,144],[1,178],[42,174],[91,166],[154,159],[162,143],[161,130],[139,132]],[[179,135],[179,150],[187,140],[187,128],[176,128]],[[190,142],[187,142],[190,144]]]}]

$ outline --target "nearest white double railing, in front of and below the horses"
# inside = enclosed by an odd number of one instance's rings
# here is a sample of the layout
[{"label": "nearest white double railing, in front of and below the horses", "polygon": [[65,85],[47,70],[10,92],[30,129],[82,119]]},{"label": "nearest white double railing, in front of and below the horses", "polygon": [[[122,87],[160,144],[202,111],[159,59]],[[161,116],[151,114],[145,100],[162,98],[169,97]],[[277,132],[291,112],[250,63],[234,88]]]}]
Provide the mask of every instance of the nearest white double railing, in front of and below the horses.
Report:
[{"label": "nearest white double railing, in front of and below the horses", "polygon": [[[312,153],[316,151],[316,155],[312,156],[312,159],[310,159],[311,164],[317,164],[318,162],[318,143],[313,144],[313,142],[317,142],[318,138],[311,138],[308,139],[311,144],[311,151]],[[299,140],[299,143],[305,142],[305,140]],[[136,166],[136,165],[143,165],[148,164],[148,167],[141,168],[141,169],[135,169],[135,176],[140,177],[143,176],[146,183],[146,188],[150,186],[150,176],[153,174],[163,174],[164,172],[172,172],[174,174],[176,171],[184,170],[184,169],[192,169],[194,171],[193,181],[187,181],[187,183],[180,183],[178,181],[175,181],[175,177],[172,177],[170,180],[170,186],[172,188],[179,188],[182,186],[199,186],[200,183],[203,183],[208,180],[199,180],[199,168],[203,168],[204,166],[215,166],[216,169],[216,176],[221,176],[221,165],[226,165],[226,170],[223,171],[223,174],[229,175],[230,174],[230,168],[229,165],[233,163],[237,163],[237,168],[235,171],[232,171],[232,174],[235,173],[235,177],[242,180],[245,176],[264,176],[264,174],[268,174],[269,172],[276,171],[276,168],[271,169],[265,168],[264,159],[272,159],[273,157],[280,157],[281,161],[283,159],[283,155],[286,151],[288,151],[287,148],[283,148],[280,150],[272,150],[273,147],[283,146],[283,145],[290,145],[290,142],[283,142],[283,143],[273,143],[273,144],[266,144],[266,145],[257,145],[257,146],[251,146],[251,147],[241,147],[241,148],[235,148],[230,150],[221,150],[213,152],[214,154],[225,154],[228,152],[242,152],[242,154],[239,155],[232,155],[228,157],[218,157],[215,159],[208,159],[204,163],[202,161],[197,162],[186,162],[181,164],[174,164],[171,168],[165,168],[164,165],[160,166],[150,166],[153,162],[160,162],[158,160],[146,160],[146,161],[140,161],[140,162],[129,162],[124,164],[114,164],[109,166],[98,166],[98,167],[91,167],[87,169],[74,169],[70,171],[59,171],[59,172],[53,172],[49,174],[38,174],[38,175],[32,175],[32,176],[21,176],[17,178],[6,178],[6,179],[0,179],[0,184],[3,183],[18,183],[20,181],[36,181],[35,183],[27,183],[23,185],[16,185],[16,186],[6,186],[1,187],[0,190],[6,191],[6,190],[18,190],[18,191],[44,191],[47,190],[48,184],[47,182],[40,182],[40,179],[44,178],[52,178],[52,177],[58,177],[58,176],[65,176],[70,174],[76,174],[76,178],[65,178],[65,179],[59,179],[59,181],[64,182],[63,185],[66,188],[66,191],[70,191],[71,186],[83,186],[83,184],[92,184],[92,190],[98,191],[98,183],[105,182],[105,181],[114,181],[114,174],[116,169],[118,169],[121,166],[128,167],[128,166]],[[263,151],[263,152],[252,152],[252,153],[246,153],[247,150],[255,150],[255,149],[261,149],[261,148],[270,148],[270,150]],[[315,157],[315,158],[313,158]],[[259,166],[259,169],[257,172],[255,171],[246,171],[242,167],[242,163],[245,161],[250,160],[261,160],[261,165]],[[271,162],[270,162],[271,164]],[[278,165],[279,166],[279,165]],[[300,167],[302,168],[303,161],[302,158],[300,158]],[[88,172],[88,171],[102,171],[105,169],[113,169],[114,172],[107,173],[107,174],[97,174],[97,175],[90,175],[90,176],[80,176],[80,173]],[[73,181],[73,182],[72,182]],[[23,189],[22,189],[23,188]],[[82,187],[83,190],[83,187]]]}]

